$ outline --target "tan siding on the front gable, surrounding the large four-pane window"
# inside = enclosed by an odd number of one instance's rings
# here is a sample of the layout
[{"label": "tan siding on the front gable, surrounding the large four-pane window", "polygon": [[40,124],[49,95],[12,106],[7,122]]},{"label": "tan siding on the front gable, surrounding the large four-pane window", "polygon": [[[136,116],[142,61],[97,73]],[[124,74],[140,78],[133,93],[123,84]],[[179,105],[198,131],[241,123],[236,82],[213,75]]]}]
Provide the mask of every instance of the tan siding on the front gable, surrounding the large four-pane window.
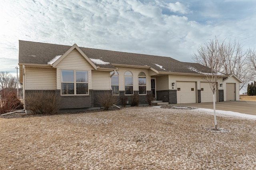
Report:
[{"label": "tan siding on the front gable, surrounding the large four-pane window", "polygon": [[88,87],[92,89],[92,67],[90,64],[82,57],[76,49],[71,51],[58,65],[57,68],[57,89],[60,89],[60,70],[81,70],[88,71]]}]

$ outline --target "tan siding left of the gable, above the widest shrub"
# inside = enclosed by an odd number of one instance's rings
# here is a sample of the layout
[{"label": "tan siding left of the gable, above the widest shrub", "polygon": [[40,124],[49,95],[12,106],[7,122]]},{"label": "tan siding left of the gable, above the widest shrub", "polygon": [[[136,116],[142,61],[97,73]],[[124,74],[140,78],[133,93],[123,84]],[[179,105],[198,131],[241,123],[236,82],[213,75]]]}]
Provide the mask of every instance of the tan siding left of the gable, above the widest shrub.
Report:
[{"label": "tan siding left of the gable, above the widest shrub", "polygon": [[56,69],[26,68],[26,90],[55,90]]}]

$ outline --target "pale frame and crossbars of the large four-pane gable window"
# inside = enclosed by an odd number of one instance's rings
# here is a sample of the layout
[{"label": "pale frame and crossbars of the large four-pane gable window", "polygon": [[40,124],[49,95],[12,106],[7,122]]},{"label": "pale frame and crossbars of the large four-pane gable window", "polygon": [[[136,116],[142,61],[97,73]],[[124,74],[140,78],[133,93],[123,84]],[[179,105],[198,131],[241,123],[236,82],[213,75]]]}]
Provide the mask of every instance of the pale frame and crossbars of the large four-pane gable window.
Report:
[{"label": "pale frame and crossbars of the large four-pane gable window", "polygon": [[[74,71],[74,82],[66,82],[62,81],[62,70],[66,71]],[[87,82],[76,82],[76,71],[84,71],[87,72]],[[62,83],[72,83],[74,84],[74,94],[62,94]],[[88,94],[76,94],[76,83],[82,83],[82,84],[87,84],[88,91],[86,93]],[[60,95],[61,96],[88,96],[89,94],[89,71],[88,70],[75,70],[75,69],[60,69]]]}]

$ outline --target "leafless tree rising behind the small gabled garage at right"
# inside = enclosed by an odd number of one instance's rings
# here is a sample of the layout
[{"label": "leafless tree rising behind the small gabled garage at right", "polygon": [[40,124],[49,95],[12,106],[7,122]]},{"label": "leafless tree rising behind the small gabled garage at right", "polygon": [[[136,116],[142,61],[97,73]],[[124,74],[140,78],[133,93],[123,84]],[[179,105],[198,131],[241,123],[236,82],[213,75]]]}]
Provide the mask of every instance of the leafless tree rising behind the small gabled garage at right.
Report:
[{"label": "leafless tree rising behind the small gabled garage at right", "polygon": [[234,74],[243,81],[240,84],[240,90],[251,81],[252,72],[248,69],[248,55],[250,49],[243,50],[242,45],[239,42],[225,42],[222,43],[221,49],[222,56],[222,68],[221,72],[225,74]]}]

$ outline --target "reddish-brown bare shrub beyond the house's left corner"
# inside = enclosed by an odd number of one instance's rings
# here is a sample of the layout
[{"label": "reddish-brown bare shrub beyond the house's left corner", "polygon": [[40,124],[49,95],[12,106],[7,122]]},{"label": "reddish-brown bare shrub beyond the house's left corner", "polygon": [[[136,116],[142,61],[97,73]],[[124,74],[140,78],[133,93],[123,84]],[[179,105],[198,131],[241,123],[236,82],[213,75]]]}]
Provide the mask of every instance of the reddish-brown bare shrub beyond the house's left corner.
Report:
[{"label": "reddish-brown bare shrub beyond the house's left corner", "polygon": [[17,94],[13,91],[2,92],[0,100],[0,114],[8,113],[14,110],[23,109],[22,102],[18,99]]}]

